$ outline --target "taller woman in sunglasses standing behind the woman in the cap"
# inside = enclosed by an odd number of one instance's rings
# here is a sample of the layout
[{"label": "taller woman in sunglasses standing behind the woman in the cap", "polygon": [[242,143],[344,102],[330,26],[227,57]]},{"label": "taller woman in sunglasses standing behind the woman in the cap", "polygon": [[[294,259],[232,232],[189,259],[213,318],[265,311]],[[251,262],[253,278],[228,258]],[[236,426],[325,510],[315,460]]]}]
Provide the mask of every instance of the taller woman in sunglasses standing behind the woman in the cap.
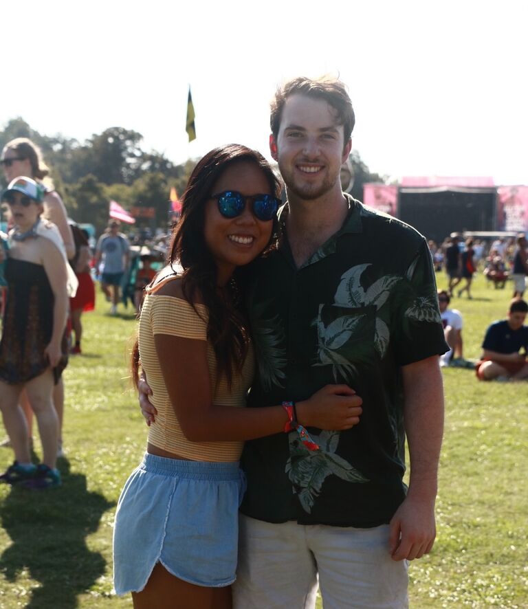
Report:
[{"label": "taller woman in sunglasses standing behind the woman in the cap", "polygon": [[[0,155],[0,164],[8,183],[15,177],[26,175],[43,187],[42,219],[56,225],[63,239],[67,258],[72,260],[76,253],[74,235],[68,224],[63,199],[61,199],[61,196],[54,188],[53,182],[50,179],[50,168],[45,164],[39,146],[32,142],[32,140],[29,140],[28,137],[17,137],[14,140],[10,140],[3,147]],[[70,296],[74,296],[74,294],[70,294]],[[28,421],[28,433],[30,434],[30,439],[32,439],[33,411],[24,392],[21,395],[21,401],[26,420]],[[54,387],[53,403],[59,421],[58,454],[63,456],[64,380],[62,376]],[[10,440],[8,439],[1,444],[10,445]]]}]

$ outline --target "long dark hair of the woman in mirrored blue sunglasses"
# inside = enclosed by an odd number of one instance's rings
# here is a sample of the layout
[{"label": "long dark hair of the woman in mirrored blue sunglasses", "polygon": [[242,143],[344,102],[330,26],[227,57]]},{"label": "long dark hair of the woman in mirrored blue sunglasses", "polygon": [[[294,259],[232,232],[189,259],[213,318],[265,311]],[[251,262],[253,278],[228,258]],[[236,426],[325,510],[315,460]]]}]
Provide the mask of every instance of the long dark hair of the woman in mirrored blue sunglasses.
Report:
[{"label": "long dark hair of the woman in mirrored blue sunglasses", "polygon": [[[217,289],[217,265],[205,240],[206,203],[213,194],[212,188],[225,170],[235,163],[250,162],[259,167],[278,197],[279,181],[267,160],[259,153],[241,144],[219,146],[207,153],[192,171],[184,195],[181,197],[181,216],[173,230],[168,263],[178,265],[184,298],[197,311],[197,301],[208,308],[207,337],[217,360],[217,378],[225,375],[231,385],[233,370],[240,370],[248,352],[248,324],[243,307],[245,278],[252,265],[234,271],[230,298],[223,298]],[[266,250],[276,241],[276,220]],[[266,251],[265,250],[265,251]],[[175,271],[177,272],[177,271]],[[133,378],[137,384],[139,354],[133,353]]]}]

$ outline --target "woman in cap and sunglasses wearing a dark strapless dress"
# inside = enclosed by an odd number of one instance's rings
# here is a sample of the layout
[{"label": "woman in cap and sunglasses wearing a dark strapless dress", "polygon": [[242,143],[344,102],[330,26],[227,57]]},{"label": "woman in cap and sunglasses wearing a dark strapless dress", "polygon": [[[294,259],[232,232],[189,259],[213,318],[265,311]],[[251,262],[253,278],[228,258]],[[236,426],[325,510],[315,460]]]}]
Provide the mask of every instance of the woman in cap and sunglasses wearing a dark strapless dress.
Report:
[{"label": "woman in cap and sunglasses wearing a dark strapless dress", "polygon": [[[0,342],[0,409],[15,461],[0,481],[32,489],[61,484],[52,391],[67,362],[68,285],[74,277],[61,235],[42,219],[43,198],[41,184],[29,177],[15,178],[2,195],[13,228],[5,263],[8,297]],[[39,465],[31,463],[28,426],[19,406],[23,390],[39,423]]]}]

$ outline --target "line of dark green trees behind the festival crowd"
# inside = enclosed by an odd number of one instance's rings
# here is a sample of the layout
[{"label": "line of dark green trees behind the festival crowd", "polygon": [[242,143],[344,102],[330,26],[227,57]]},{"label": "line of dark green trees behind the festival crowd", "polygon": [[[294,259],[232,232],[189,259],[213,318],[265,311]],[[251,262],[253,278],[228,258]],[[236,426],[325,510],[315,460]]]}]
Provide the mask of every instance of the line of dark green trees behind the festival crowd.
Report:
[{"label": "line of dark green trees behind the festival crowd", "polygon": [[[154,208],[155,217],[138,218],[138,228],[166,226],[170,188],[175,187],[181,195],[197,162],[188,159],[175,165],[162,153],[144,151],[141,133],[124,127],[110,127],[79,142],[61,134],[42,135],[23,118],[14,118],[0,131],[0,149],[15,137],[29,137],[41,148],[69,216],[94,224],[98,233],[107,225],[111,200],[126,210]],[[357,151],[351,153],[350,160],[355,175],[351,195],[361,199],[363,184],[382,178],[370,172]],[[1,179],[5,187],[3,176]]]}]

